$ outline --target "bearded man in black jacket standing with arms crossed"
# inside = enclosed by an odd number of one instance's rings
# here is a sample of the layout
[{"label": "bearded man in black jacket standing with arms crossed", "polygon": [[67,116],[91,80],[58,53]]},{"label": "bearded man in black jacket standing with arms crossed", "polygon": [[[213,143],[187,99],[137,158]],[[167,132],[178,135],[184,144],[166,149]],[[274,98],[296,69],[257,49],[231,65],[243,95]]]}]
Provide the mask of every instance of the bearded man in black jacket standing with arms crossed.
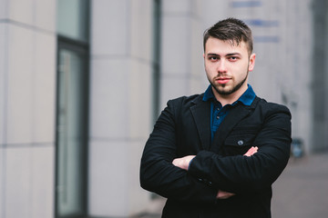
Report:
[{"label": "bearded man in black jacket standing with arms crossed", "polygon": [[141,186],[168,201],[162,217],[271,217],[272,183],[285,168],[291,114],[256,96],[251,29],[228,18],[204,33],[210,86],[170,100],[145,146]]}]

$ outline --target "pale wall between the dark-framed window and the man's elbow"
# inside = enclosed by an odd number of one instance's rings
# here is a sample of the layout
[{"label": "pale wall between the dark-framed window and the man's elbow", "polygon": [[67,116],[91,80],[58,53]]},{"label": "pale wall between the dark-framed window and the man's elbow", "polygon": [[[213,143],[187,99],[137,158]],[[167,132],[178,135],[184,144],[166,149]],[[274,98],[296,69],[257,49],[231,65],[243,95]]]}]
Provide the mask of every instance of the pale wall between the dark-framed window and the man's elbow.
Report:
[{"label": "pale wall between the dark-framed window and the man's elbow", "polygon": [[92,2],[89,214],[127,216],[149,202],[138,167],[151,121],[151,1]]}]

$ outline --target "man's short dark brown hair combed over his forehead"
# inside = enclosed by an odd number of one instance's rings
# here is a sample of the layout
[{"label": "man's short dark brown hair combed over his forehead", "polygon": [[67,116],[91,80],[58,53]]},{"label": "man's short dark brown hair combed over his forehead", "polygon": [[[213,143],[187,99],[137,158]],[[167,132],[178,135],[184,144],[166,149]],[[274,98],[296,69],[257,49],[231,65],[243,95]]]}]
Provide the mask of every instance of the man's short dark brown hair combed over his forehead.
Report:
[{"label": "man's short dark brown hair combed over his forehead", "polygon": [[239,19],[227,18],[205,30],[203,41],[204,51],[206,42],[210,37],[223,41],[230,41],[232,45],[240,45],[241,42],[244,42],[248,46],[249,54],[252,53],[253,43],[251,28]]}]

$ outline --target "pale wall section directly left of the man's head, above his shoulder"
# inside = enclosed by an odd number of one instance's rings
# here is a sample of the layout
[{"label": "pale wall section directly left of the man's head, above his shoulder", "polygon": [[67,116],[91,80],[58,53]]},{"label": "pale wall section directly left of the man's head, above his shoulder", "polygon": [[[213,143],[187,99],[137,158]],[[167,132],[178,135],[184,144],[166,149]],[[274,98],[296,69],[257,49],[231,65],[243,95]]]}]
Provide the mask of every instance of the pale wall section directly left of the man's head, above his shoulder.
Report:
[{"label": "pale wall section directly left of the man's head, above his shoulder", "polygon": [[207,85],[202,63],[203,1],[162,1],[160,100],[203,92]]}]

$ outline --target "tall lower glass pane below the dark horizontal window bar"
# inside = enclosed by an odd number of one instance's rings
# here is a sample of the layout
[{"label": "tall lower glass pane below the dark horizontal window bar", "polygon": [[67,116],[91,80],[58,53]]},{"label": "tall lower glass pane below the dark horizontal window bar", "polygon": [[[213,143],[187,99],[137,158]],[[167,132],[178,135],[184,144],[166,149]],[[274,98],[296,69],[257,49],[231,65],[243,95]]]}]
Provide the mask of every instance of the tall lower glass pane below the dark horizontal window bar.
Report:
[{"label": "tall lower glass pane below the dark horizontal window bar", "polygon": [[86,213],[87,54],[60,44],[57,75],[58,217]]}]

